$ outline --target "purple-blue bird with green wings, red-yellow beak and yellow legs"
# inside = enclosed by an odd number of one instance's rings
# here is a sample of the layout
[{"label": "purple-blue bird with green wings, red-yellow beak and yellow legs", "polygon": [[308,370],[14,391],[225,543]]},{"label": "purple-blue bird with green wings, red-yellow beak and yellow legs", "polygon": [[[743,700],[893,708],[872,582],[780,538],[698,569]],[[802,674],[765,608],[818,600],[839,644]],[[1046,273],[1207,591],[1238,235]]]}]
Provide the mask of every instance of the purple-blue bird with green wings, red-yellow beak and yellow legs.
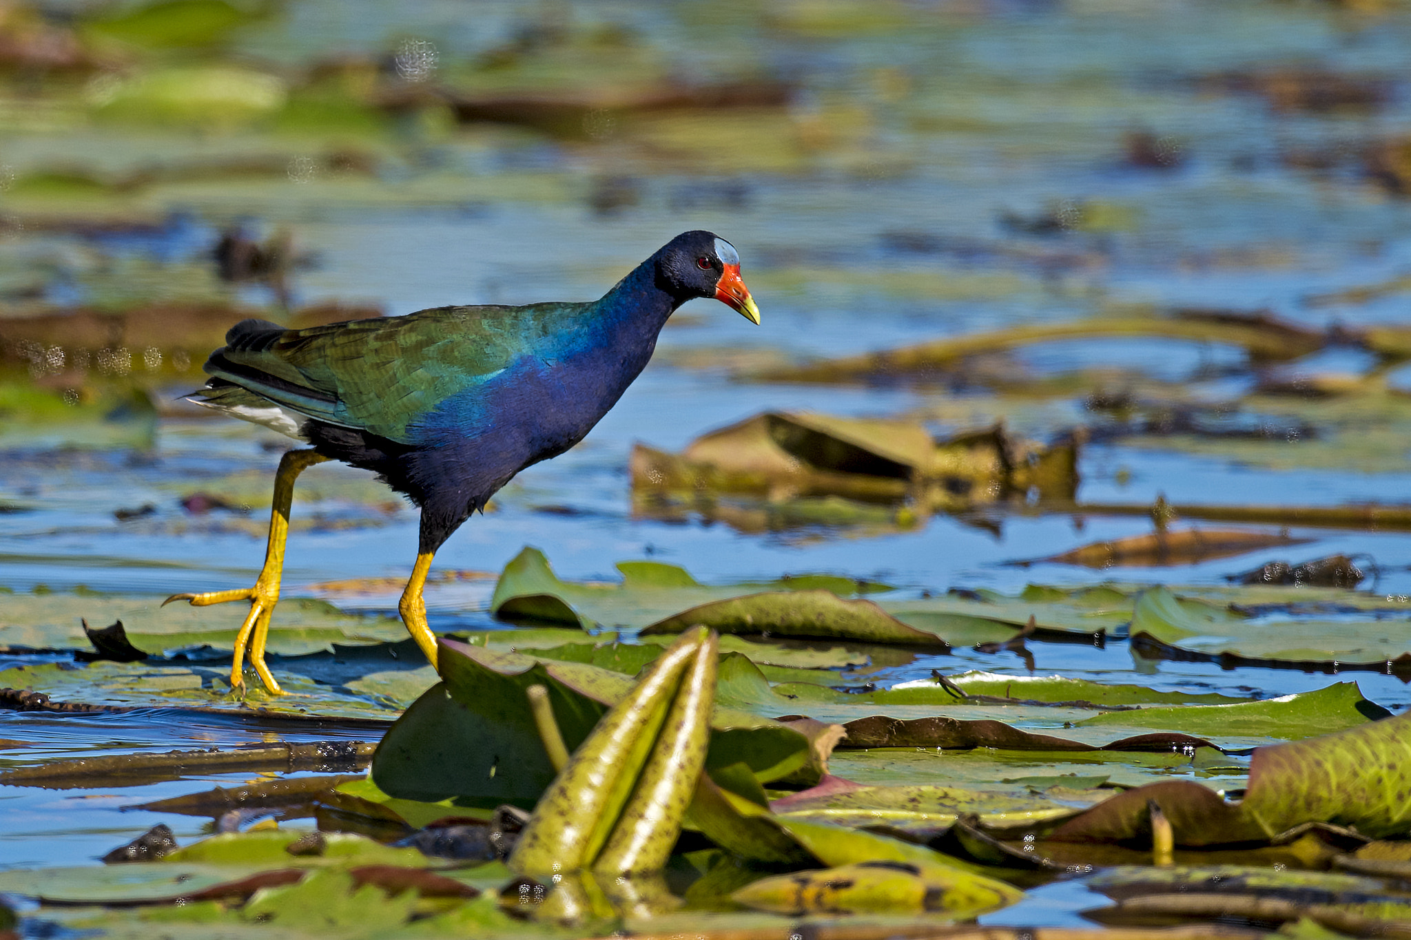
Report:
[{"label": "purple-blue bird with green wings, red-yellow beak and yellow legs", "polygon": [[593,302],[450,306],[289,330],[243,320],[206,359],[186,400],[308,444],[275,471],[264,567],[251,588],[176,593],[162,605],[248,600],[236,634],[272,695],[265,664],[299,474],[325,461],[373,471],[420,507],[416,561],[398,603],[432,665],[436,637],[422,589],[436,551],[515,474],[581,441],[646,368],[666,320],[715,297],[759,326],[739,252],[710,231],[666,242]]}]

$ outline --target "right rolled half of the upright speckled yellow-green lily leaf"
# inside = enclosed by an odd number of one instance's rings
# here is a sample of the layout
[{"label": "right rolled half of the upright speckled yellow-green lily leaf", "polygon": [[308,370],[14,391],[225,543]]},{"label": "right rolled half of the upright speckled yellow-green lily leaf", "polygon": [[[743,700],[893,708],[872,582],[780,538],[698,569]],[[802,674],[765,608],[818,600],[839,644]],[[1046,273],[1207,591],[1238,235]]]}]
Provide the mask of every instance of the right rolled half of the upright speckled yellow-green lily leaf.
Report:
[{"label": "right rolled half of the upright speckled yellow-green lily leaf", "polygon": [[594,862],[598,871],[653,872],[666,865],[682,831],[682,817],[691,802],[696,781],[706,767],[710,716],[715,703],[717,647],[718,637],[713,633],[696,648],[652,757],[608,844]]}]

